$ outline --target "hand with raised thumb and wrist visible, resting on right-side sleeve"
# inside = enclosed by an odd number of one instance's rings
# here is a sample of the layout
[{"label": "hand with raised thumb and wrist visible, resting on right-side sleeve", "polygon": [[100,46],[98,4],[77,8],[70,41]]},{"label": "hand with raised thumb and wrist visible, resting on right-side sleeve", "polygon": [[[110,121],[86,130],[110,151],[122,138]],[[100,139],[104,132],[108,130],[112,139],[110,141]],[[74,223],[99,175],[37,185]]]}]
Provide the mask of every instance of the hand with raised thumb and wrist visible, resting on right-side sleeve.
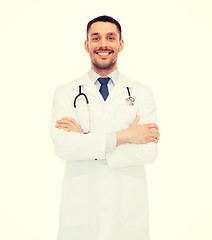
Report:
[{"label": "hand with raised thumb and wrist visible, resting on right-side sleeve", "polygon": [[116,132],[117,146],[124,143],[158,143],[160,137],[158,125],[155,123],[138,124],[139,120],[140,117],[137,116],[127,129]]}]

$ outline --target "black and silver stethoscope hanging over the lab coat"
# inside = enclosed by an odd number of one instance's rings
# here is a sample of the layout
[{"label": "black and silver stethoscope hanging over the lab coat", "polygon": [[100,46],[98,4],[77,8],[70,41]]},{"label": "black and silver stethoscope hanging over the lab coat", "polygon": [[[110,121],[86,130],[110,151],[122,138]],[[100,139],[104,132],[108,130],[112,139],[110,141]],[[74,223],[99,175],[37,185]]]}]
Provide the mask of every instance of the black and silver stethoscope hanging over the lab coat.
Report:
[{"label": "black and silver stethoscope hanging over the lab coat", "polygon": [[[131,96],[130,94],[130,89],[129,87],[126,87],[127,88],[127,92],[128,92],[128,98],[126,98],[126,102],[129,106],[133,106],[135,104],[135,98]],[[77,99],[80,97],[80,96],[83,96],[85,98],[85,101],[86,101],[86,105],[87,105],[87,109],[88,109],[88,115],[89,115],[89,124],[85,127],[82,128],[82,125],[80,123],[80,118],[79,118],[79,114],[77,113]],[[89,133],[90,130],[91,130],[91,122],[90,122],[90,111],[89,111],[89,101],[88,101],[88,97],[86,96],[85,93],[82,93],[82,86],[79,85],[79,94],[74,98],[74,108],[75,108],[75,112],[76,112],[76,115],[77,115],[77,118],[78,118],[78,122],[80,124],[80,127],[82,129],[82,131],[84,133]]]}]

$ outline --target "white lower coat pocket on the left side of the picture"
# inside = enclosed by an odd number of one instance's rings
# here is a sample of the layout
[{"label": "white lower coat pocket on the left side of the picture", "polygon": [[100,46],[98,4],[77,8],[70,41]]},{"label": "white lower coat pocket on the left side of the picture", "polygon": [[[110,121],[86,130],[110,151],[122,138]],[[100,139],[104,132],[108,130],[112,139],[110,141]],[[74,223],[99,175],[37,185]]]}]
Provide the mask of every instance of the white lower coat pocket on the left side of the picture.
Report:
[{"label": "white lower coat pocket on the left side of the picture", "polygon": [[60,224],[81,225],[88,221],[88,176],[66,178],[62,186]]}]

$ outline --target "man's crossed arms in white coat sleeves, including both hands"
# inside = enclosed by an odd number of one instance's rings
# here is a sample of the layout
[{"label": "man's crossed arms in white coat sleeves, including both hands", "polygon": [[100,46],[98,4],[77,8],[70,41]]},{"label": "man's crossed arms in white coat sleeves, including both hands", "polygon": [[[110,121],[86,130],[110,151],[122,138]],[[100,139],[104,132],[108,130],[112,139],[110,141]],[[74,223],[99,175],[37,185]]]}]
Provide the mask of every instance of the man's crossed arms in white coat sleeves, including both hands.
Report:
[{"label": "man's crossed arms in white coat sleeves, including both hands", "polygon": [[156,159],[160,133],[155,123],[156,105],[150,89],[138,89],[141,94],[137,95],[142,96],[137,99],[140,117],[137,116],[125,129],[108,134],[84,134],[74,120],[76,114],[65,87],[59,86],[55,91],[49,123],[58,157],[67,161],[107,159],[109,168],[143,165]]}]

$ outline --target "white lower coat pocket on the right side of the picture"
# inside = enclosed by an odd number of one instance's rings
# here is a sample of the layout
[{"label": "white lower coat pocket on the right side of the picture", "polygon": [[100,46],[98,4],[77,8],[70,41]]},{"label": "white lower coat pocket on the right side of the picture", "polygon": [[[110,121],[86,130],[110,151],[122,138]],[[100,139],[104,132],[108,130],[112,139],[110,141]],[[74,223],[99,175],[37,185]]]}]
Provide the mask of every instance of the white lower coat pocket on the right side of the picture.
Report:
[{"label": "white lower coat pocket on the right side of the picture", "polygon": [[120,222],[146,228],[148,226],[148,197],[146,181],[123,177],[120,202]]}]

